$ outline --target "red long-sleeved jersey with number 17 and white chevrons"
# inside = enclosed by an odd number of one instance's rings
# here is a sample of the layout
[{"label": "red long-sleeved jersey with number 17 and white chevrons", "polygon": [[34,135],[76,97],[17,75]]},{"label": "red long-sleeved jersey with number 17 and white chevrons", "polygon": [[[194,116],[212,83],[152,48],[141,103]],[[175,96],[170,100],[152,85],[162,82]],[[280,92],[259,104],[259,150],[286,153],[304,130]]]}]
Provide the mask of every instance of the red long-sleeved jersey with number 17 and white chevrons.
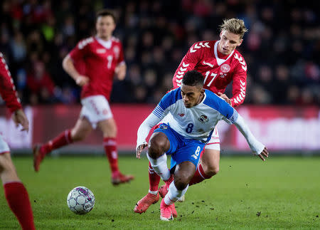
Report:
[{"label": "red long-sleeved jersey with number 17 and white chevrons", "polygon": [[218,58],[218,43],[219,41],[201,41],[191,46],[174,73],[174,88],[181,85],[183,75],[188,70],[202,73],[205,78],[203,87],[213,93],[224,93],[233,80],[233,97],[230,99],[231,105],[235,107],[245,100],[247,65],[236,50],[226,59]]}]

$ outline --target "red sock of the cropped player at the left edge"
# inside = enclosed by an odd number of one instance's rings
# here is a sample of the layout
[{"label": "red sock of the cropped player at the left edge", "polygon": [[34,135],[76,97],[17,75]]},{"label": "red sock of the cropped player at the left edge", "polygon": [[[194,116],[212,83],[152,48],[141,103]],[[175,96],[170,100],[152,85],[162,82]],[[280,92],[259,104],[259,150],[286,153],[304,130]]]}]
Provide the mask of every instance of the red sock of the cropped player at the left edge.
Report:
[{"label": "red sock of the cropped player at the left edge", "polygon": [[21,182],[9,182],[4,184],[4,193],[10,209],[16,215],[23,230],[36,229],[33,223],[28,192]]}]

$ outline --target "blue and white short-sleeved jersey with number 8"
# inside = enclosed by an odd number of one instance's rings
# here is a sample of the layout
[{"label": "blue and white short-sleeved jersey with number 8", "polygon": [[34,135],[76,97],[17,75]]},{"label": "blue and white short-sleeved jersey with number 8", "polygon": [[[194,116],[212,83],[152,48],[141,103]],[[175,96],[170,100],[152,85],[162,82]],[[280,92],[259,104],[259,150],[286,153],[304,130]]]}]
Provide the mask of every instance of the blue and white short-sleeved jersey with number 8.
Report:
[{"label": "blue and white short-sleeved jersey with number 8", "polygon": [[152,111],[162,120],[168,113],[172,119],[169,125],[183,137],[208,142],[215,125],[219,120],[233,124],[238,119],[237,111],[222,98],[209,90],[205,90],[201,103],[186,108],[181,96],[181,88],[171,90],[164,95],[160,103]]}]

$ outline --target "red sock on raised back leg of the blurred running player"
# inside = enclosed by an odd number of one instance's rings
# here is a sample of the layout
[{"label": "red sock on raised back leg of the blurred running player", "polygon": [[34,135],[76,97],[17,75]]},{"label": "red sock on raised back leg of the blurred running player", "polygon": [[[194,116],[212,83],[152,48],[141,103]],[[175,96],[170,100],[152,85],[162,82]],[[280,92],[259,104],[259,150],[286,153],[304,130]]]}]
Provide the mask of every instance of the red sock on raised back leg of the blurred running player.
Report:
[{"label": "red sock on raised back leg of the blurred running player", "polygon": [[42,145],[40,148],[40,152],[43,155],[46,155],[48,152],[52,150],[56,150],[65,145],[69,145],[73,142],[71,138],[71,130],[65,130],[61,132],[57,137],[53,140],[48,141],[45,145]]}]

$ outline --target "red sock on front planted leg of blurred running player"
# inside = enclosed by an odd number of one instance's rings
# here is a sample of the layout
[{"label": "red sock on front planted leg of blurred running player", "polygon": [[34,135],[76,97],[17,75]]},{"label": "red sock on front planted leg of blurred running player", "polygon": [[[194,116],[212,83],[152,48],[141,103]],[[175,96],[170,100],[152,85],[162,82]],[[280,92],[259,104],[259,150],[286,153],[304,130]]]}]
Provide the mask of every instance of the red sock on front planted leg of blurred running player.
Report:
[{"label": "red sock on front planted leg of blurred running player", "polygon": [[117,152],[117,142],[113,137],[103,138],[103,145],[105,147],[105,154],[108,157],[110,168],[112,174],[119,173],[118,167],[118,152]]}]

